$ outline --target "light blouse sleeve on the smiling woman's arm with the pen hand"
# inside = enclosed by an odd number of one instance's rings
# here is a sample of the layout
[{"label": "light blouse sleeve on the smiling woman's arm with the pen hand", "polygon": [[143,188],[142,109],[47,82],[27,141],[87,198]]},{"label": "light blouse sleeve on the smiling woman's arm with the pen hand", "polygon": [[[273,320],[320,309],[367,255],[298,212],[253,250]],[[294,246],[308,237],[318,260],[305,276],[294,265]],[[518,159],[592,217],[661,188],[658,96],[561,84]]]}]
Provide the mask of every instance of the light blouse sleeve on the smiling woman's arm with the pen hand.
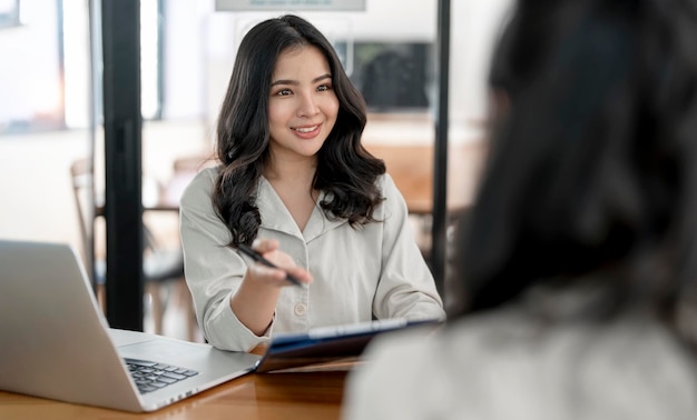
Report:
[{"label": "light blouse sleeve on the smiling woman's arm with the pen hand", "polygon": [[222,350],[249,351],[268,341],[272,328],[258,337],[230,308],[230,297],[242,283],[246,264],[227,247],[229,231],[213,209],[216,174],[216,168],[203,170],[181,196],[179,228],[186,282],[206,340]]}]

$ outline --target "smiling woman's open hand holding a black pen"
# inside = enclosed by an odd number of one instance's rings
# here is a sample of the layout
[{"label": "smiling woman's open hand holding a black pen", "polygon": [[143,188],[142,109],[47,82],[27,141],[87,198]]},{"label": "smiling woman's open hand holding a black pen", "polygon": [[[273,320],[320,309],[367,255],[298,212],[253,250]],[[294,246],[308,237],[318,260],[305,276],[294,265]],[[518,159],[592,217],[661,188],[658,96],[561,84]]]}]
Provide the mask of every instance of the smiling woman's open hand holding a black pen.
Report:
[{"label": "smiling woman's open hand holding a black pen", "polygon": [[291,274],[300,280],[301,283],[312,282],[312,274],[307,270],[297,267],[291,256],[281,251],[277,240],[257,238],[252,243],[252,248],[277,268],[267,267],[259,262],[251,263],[247,267],[249,280],[281,288],[293,284],[286,279],[286,276]]}]

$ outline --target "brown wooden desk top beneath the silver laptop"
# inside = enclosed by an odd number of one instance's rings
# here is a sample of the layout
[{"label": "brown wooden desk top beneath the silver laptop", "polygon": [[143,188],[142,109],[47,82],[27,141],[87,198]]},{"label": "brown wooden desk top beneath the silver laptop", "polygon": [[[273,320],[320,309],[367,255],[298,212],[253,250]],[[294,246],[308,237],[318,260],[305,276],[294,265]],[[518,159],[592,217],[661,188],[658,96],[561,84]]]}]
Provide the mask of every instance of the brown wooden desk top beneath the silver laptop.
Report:
[{"label": "brown wooden desk top beneath the silver laptop", "polygon": [[0,391],[0,419],[340,419],[346,373],[251,373],[149,413]]}]

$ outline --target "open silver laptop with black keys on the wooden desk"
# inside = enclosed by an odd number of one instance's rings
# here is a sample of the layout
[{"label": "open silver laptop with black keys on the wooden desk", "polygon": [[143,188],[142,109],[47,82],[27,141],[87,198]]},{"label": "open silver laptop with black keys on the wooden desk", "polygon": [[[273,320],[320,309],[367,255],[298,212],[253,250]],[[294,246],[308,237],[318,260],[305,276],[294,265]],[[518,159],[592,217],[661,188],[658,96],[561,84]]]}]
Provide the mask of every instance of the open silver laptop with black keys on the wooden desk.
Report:
[{"label": "open silver laptop with black keys on the wooden desk", "polygon": [[154,411],[254,370],[259,356],[110,329],[75,250],[0,240],[0,390]]}]

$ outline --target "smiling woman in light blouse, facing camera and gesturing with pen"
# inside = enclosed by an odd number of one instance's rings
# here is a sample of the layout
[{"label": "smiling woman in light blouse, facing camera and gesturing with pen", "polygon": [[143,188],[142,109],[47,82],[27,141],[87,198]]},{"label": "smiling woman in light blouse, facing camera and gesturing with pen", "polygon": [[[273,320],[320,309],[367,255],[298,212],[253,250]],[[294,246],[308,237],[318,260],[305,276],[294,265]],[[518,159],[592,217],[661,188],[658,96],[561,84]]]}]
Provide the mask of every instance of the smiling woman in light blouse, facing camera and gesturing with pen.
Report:
[{"label": "smiling woman in light blouse, facing camera and gesturing with pen", "polygon": [[[404,199],[361,143],[365,122],[314,26],[284,16],[245,34],[218,117],[219,164],[180,200],[186,281],[213,346],[248,351],[272,331],[444,317]],[[279,269],[246,260],[242,244]]]}]

